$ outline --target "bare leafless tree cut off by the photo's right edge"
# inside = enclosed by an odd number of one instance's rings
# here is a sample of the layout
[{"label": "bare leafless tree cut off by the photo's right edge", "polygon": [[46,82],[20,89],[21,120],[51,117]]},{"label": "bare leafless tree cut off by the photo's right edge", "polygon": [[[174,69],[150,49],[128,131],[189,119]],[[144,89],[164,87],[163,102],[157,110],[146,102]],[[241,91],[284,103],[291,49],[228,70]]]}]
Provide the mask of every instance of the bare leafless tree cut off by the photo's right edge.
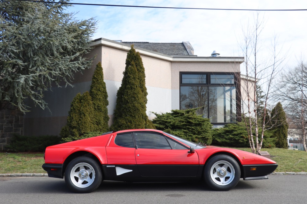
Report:
[{"label": "bare leafless tree cut off by the photo's right edge", "polygon": [[278,90],[278,96],[286,103],[287,115],[299,131],[307,151],[307,62],[301,58],[296,67],[284,73]]}]

